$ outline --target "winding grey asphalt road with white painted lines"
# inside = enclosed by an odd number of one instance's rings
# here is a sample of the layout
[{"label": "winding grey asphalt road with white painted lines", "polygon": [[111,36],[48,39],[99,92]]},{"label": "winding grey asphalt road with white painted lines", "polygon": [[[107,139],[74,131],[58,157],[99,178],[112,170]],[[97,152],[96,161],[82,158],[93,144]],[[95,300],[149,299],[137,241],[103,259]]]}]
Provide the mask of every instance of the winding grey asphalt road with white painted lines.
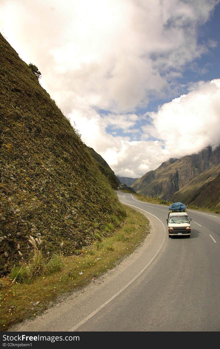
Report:
[{"label": "winding grey asphalt road with white painted lines", "polygon": [[220,215],[188,210],[190,239],[168,238],[168,207],[117,193],[150,220],[142,246],[10,331],[220,331]]}]

